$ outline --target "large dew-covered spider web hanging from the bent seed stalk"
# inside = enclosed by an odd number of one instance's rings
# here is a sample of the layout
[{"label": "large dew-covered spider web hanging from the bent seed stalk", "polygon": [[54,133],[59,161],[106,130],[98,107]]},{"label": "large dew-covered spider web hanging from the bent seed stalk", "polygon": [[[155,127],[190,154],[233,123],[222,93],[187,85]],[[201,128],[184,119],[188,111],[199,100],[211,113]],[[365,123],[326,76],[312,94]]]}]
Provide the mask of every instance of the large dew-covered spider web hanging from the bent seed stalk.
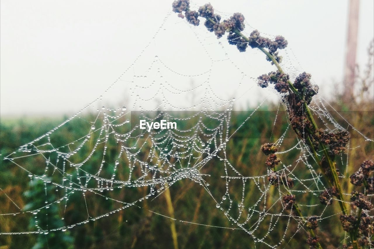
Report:
[{"label": "large dew-covered spider web hanging from the bent seed stalk", "polygon": [[[224,18],[230,13],[220,15]],[[244,34],[253,29],[247,23]],[[281,53],[281,65],[293,81],[304,70],[291,49]],[[340,215],[338,209],[321,208],[319,204],[319,194],[328,186],[309,147],[289,124],[283,95],[273,87],[257,84],[259,75],[274,70],[259,50],[239,53],[226,39],[217,40],[202,25],[193,27],[169,13],[134,63],[101,96],[50,132],[3,155],[1,164],[18,172],[9,177],[24,179],[23,192],[45,201],[22,205],[11,191],[6,191],[11,186],[2,185],[1,205],[7,210],[2,209],[1,217],[34,218],[34,223],[16,231],[4,228],[1,234],[64,232],[126,209],[144,208],[184,225],[242,230],[254,245],[276,248],[286,245],[295,234],[306,233],[303,219],[285,209],[282,198],[288,191],[296,196],[306,218],[313,215],[324,220]],[[275,107],[273,111],[263,109],[269,103]],[[373,142],[321,95],[313,97],[310,108],[324,129],[349,129],[352,136]],[[268,119],[271,133],[254,130],[259,117]],[[177,127],[148,131],[140,129],[140,120],[166,120]],[[71,129],[79,133],[67,136]],[[245,143],[254,141],[276,144],[281,159],[276,171],[288,175],[294,181],[293,188],[269,182],[271,171],[264,165],[265,156],[243,152],[246,158],[242,161],[233,156],[235,151],[245,151]],[[355,149],[349,146],[347,151]],[[348,160],[346,153],[337,160],[341,178],[347,177]],[[228,225],[194,221],[193,214],[181,219],[154,211],[152,203],[170,194],[169,189],[178,198],[183,192],[180,182],[193,182],[196,191],[203,189],[219,218],[226,219]],[[65,219],[77,202],[84,203],[80,215]],[[166,205],[164,199],[162,202]],[[111,210],[102,213],[92,208],[93,203],[110,203]],[[51,209],[57,210],[63,221],[58,224],[63,225],[45,222]],[[281,235],[274,241],[273,234],[279,231]]]}]

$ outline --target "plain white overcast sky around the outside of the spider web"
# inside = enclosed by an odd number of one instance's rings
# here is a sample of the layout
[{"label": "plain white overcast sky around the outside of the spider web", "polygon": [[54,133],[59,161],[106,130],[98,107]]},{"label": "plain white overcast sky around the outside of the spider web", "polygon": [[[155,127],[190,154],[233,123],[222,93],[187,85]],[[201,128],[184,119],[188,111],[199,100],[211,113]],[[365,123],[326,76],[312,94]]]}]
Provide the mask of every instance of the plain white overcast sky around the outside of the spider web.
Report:
[{"label": "plain white overcast sky around the outside of the spider web", "polygon": [[[348,1],[210,2],[223,12],[242,12],[260,32],[286,37],[322,96],[328,95],[333,81],[342,80]],[[76,113],[134,61],[171,3],[1,0],[1,116]],[[357,58],[361,65],[374,37],[373,12],[374,1],[361,0]],[[224,87],[229,86],[223,85],[223,91]]]}]

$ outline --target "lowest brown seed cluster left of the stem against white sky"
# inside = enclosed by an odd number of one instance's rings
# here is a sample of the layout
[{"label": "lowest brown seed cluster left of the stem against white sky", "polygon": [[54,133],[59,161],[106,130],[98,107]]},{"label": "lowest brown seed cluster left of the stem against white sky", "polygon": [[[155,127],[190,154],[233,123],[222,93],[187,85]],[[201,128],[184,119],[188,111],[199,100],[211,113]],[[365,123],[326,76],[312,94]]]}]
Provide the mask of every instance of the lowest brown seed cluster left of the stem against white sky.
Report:
[{"label": "lowest brown seed cluster left of the stem against white sky", "polygon": [[257,77],[258,85],[262,88],[269,86],[270,84],[275,84],[275,90],[279,93],[289,92],[289,75],[280,73],[279,71],[270,72],[268,74],[263,74]]}]

